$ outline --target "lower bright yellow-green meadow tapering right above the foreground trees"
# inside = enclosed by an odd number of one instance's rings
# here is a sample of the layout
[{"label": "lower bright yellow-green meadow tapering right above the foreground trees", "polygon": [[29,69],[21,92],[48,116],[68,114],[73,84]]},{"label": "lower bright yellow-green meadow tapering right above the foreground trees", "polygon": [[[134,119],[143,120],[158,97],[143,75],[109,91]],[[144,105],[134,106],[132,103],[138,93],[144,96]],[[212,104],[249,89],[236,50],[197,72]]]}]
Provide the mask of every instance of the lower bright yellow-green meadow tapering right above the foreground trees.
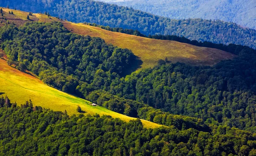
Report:
[{"label": "lower bright yellow-green meadow tapering right above the foreground trees", "polygon": [[[85,114],[110,115],[114,118],[120,118],[126,122],[135,119],[123,114],[110,111],[100,106],[92,106],[91,102],[78,98],[76,96],[64,93],[48,85],[45,85],[40,79],[32,74],[26,74],[7,65],[7,62],[0,59],[0,94],[7,95],[11,102],[17,102],[18,105],[24,104],[26,100],[31,99],[34,105],[43,108],[50,108],[53,111],[67,110],[69,115],[78,114],[77,106],[80,106]],[[142,120],[146,128],[156,128],[160,125]]]}]

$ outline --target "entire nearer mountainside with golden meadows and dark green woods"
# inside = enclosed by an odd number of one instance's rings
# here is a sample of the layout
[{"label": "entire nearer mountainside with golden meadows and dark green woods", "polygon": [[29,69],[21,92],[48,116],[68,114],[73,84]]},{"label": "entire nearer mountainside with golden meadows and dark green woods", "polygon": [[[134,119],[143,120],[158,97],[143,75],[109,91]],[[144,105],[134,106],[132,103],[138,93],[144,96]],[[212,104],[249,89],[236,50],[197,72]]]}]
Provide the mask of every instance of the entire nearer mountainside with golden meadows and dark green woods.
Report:
[{"label": "entire nearer mountainside with golden meadows and dark green woods", "polygon": [[253,48],[0,11],[0,155],[256,154]]}]

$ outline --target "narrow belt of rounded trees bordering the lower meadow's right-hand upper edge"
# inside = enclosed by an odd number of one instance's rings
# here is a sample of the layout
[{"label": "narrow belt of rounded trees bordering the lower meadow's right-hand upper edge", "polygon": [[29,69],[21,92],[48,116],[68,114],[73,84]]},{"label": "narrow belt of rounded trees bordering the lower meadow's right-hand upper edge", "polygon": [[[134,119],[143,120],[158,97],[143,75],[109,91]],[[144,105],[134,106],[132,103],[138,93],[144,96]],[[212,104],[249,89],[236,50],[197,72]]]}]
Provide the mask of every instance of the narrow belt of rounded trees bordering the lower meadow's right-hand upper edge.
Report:
[{"label": "narrow belt of rounded trees bordering the lower meadow's right-hand upper edge", "polygon": [[210,131],[209,127],[204,124],[202,119],[162,112],[160,109],[154,109],[153,107],[149,107],[148,105],[134,100],[120,98],[106,91],[92,91],[86,99],[128,116],[139,117],[140,119],[161,125],[175,125],[179,130],[195,128],[201,131]]}]

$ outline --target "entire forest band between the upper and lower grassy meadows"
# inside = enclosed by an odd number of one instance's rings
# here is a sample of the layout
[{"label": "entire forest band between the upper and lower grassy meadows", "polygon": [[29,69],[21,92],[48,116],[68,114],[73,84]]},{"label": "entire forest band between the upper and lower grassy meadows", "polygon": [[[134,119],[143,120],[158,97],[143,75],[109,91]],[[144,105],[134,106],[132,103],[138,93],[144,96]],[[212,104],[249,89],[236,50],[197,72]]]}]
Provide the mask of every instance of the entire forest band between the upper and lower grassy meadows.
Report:
[{"label": "entire forest band between the upper and lower grassy meadows", "polygon": [[127,75],[134,62],[140,64],[131,51],[70,33],[61,23],[4,26],[0,40],[9,65],[113,111],[180,130],[226,125],[256,132],[256,51],[251,48],[227,46],[239,56],[212,67],[159,60],[152,69]]}]

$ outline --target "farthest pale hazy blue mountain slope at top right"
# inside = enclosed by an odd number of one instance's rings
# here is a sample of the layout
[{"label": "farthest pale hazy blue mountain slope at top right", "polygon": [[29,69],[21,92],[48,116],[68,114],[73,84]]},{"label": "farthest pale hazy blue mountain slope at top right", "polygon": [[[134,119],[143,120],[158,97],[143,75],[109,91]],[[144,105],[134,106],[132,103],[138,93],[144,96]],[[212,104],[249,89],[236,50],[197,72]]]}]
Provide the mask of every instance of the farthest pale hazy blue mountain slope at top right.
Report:
[{"label": "farthest pale hazy blue mountain slope at top right", "polygon": [[254,0],[100,0],[172,19],[224,20],[256,28]]}]

